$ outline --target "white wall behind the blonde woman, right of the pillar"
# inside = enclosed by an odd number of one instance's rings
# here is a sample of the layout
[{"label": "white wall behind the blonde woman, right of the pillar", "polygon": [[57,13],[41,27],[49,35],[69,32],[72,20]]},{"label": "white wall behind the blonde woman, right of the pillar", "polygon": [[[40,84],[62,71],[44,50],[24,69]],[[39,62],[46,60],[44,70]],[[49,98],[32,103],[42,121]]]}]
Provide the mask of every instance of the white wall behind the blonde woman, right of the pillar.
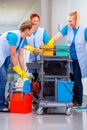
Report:
[{"label": "white wall behind the blonde woman, right of the pillar", "polygon": [[80,12],[80,23],[87,26],[87,1],[86,0],[52,0],[52,30],[54,35],[60,27],[67,23],[69,12],[78,10]]}]

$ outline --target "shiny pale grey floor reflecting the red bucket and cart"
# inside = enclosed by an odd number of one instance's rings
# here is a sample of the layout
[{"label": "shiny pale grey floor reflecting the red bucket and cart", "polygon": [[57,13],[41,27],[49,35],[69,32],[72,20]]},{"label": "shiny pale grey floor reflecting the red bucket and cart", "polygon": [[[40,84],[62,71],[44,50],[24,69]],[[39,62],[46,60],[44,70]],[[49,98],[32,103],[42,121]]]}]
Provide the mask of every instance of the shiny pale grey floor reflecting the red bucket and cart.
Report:
[{"label": "shiny pale grey floor reflecting the red bucket and cart", "polygon": [[0,113],[0,130],[87,130],[87,110],[73,111],[70,116],[59,113],[37,115],[36,111]]}]

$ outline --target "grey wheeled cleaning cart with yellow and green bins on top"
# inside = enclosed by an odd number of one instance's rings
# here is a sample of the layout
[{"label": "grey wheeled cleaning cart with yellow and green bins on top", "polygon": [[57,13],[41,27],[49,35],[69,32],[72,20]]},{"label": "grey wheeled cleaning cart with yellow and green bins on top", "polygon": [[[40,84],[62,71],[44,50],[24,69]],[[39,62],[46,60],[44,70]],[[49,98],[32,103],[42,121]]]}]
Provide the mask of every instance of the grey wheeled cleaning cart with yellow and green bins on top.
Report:
[{"label": "grey wheeled cleaning cart with yellow and green bins on top", "polygon": [[37,114],[47,108],[65,108],[65,114],[72,114],[73,82],[70,81],[69,46],[42,46],[39,66],[41,89]]}]

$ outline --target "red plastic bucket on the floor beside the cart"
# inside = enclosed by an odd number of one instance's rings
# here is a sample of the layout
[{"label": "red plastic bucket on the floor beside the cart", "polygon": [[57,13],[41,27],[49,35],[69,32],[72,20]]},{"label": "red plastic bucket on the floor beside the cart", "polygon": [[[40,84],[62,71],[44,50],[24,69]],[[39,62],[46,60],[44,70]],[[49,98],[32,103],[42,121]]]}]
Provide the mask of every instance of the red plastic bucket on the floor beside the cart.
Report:
[{"label": "red plastic bucket on the floor beside the cart", "polygon": [[10,112],[32,112],[32,97],[30,94],[12,93],[10,95]]}]

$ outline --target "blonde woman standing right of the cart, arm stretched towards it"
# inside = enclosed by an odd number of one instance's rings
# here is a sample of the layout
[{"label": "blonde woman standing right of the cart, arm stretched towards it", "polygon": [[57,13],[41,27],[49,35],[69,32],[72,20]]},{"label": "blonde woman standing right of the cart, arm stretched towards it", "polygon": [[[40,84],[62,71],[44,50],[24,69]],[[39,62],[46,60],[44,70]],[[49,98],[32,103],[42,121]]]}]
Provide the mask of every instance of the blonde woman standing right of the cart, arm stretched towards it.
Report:
[{"label": "blonde woman standing right of the cart, arm stretched towards it", "polygon": [[67,17],[68,24],[65,25],[49,42],[53,45],[59,38],[67,35],[70,45],[70,56],[72,59],[73,76],[74,76],[74,97],[73,106],[82,106],[83,102],[83,85],[81,78],[87,77],[87,28],[80,26],[80,16],[78,11],[69,13]]}]

